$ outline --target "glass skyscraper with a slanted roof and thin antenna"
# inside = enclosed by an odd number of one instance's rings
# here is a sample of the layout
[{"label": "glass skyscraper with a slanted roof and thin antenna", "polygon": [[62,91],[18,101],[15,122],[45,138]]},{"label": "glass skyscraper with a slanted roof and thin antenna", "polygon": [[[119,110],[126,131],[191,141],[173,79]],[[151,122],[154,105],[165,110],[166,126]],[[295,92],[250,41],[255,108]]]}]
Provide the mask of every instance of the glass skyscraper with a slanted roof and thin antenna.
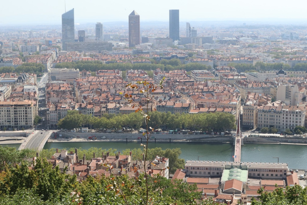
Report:
[{"label": "glass skyscraper with a slanted roof and thin antenna", "polygon": [[66,43],[75,42],[74,9],[62,14],[62,48],[67,50]]}]

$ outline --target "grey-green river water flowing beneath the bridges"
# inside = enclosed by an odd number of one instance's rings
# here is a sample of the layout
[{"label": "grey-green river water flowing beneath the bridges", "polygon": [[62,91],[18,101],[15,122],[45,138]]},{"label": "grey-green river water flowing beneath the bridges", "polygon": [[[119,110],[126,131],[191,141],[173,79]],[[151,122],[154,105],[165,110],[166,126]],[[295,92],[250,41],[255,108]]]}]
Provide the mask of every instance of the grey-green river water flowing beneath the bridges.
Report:
[{"label": "grey-green river water flowing beneath the bridges", "polygon": [[[101,147],[103,149],[141,148],[140,142],[60,142],[46,143],[44,149],[50,148]],[[181,148],[180,157],[185,160],[233,161],[234,146],[229,143],[162,143],[150,142],[149,148]],[[293,169],[307,169],[307,146],[288,144],[245,144],[241,149],[242,162],[279,162],[288,163]]]}]

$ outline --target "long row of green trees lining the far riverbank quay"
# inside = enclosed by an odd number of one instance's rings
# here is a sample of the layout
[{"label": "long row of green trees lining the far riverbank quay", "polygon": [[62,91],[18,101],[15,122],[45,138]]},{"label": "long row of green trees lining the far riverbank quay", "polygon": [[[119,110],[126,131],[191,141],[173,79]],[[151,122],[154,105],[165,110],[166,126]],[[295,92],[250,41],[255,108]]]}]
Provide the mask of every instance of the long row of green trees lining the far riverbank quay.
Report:
[{"label": "long row of green trees lining the far riverbank quay", "polygon": [[[171,114],[170,112],[149,112],[150,121],[148,125],[154,129],[186,129],[226,131],[235,128],[235,116],[229,113],[201,113],[201,114]],[[78,111],[68,111],[63,119],[59,120],[58,126],[63,129],[74,129],[81,126],[93,127],[95,129],[139,129],[145,127],[141,113],[130,113],[127,115],[103,115],[101,118],[91,115],[79,114]]]}]

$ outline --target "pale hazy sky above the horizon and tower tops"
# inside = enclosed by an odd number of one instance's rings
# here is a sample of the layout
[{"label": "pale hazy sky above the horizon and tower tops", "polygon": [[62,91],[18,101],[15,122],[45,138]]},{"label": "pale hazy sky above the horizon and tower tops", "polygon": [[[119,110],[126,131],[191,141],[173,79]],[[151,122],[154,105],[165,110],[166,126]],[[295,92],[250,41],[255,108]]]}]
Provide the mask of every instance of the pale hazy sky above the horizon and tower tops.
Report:
[{"label": "pale hazy sky above the horizon and tower tops", "polygon": [[[179,9],[180,21],[254,20],[264,18],[306,20],[305,1],[286,0],[66,0],[75,8],[75,23],[126,21],[135,10],[142,21],[169,20],[169,9]],[[0,4],[2,24],[61,24],[64,0],[7,0]]]}]

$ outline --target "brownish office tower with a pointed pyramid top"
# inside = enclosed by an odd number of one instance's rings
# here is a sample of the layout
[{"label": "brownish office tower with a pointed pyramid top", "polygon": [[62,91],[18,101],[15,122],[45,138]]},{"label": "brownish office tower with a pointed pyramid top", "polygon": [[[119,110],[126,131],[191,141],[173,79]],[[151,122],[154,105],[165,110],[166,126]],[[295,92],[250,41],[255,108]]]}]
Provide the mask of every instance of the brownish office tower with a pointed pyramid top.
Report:
[{"label": "brownish office tower with a pointed pyramid top", "polygon": [[129,15],[129,47],[140,44],[140,15],[134,10]]}]

